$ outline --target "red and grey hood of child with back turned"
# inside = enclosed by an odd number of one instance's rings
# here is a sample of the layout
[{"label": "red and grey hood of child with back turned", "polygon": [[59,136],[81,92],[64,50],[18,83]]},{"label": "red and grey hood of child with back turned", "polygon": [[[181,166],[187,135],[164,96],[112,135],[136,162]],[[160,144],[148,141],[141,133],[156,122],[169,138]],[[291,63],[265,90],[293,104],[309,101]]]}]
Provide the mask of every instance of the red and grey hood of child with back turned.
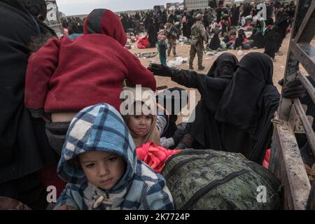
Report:
[{"label": "red and grey hood of child with back turned", "polygon": [[84,22],[84,34],[105,34],[125,46],[127,36],[118,16],[108,9],[94,9]]}]

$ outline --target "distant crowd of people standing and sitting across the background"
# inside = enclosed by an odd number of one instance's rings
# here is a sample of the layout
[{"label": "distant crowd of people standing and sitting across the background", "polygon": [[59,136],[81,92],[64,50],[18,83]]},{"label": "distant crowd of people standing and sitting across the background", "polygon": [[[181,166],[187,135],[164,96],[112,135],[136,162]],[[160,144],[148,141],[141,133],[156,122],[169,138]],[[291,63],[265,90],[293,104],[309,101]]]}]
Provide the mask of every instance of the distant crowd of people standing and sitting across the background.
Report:
[{"label": "distant crowd of people standing and sitting across the background", "polygon": [[[192,62],[197,54],[198,70],[203,70],[204,50],[265,48],[265,53],[274,61],[276,54],[282,55],[279,49],[293,22],[294,1],[282,4],[279,1],[266,1],[266,15],[257,6],[258,4],[253,3],[240,3],[238,6],[232,4],[224,7],[223,2],[219,1],[216,9],[151,10],[134,15],[123,13],[120,18],[126,32],[134,35],[147,33],[150,48],[155,48],[159,35],[160,38],[166,36],[167,56],[171,50],[174,57],[178,56],[176,42],[183,36],[188,40],[187,43],[193,43],[190,50],[190,69],[193,69]],[[262,18],[262,15],[266,18]],[[196,22],[200,20],[201,25],[195,29]],[[207,44],[206,49],[204,43]],[[166,54],[162,58],[166,58]],[[163,59],[161,63],[165,63],[164,61]]]}]

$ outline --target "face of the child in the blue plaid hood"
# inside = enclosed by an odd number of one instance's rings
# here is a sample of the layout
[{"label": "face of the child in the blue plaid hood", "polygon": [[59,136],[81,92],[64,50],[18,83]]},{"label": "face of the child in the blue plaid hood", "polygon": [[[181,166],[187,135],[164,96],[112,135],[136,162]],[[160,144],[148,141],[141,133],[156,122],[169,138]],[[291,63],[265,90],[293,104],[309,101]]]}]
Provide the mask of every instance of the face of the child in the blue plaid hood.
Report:
[{"label": "face of the child in the blue plaid hood", "polygon": [[115,153],[90,151],[79,160],[87,180],[104,190],[111,190],[125,174],[125,160]]}]

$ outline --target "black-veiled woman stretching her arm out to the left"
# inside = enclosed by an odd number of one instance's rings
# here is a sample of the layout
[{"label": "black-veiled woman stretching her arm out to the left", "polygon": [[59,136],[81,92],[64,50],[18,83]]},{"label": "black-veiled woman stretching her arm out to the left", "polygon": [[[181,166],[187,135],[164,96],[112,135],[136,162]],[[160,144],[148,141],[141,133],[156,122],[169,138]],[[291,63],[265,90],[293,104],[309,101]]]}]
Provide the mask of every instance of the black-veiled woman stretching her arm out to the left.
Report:
[{"label": "black-veiled woman stretching her arm out to the left", "polygon": [[[176,83],[199,90],[201,100],[195,108],[195,119],[191,120],[193,123],[190,123],[190,134],[195,139],[194,148],[223,149],[214,115],[225,87],[230,83],[237,63],[238,60],[235,55],[223,53],[211,66],[207,76],[188,70],[167,74],[156,64],[152,64],[148,68],[155,75],[171,76]],[[191,119],[193,119],[193,116],[191,116]]]}]

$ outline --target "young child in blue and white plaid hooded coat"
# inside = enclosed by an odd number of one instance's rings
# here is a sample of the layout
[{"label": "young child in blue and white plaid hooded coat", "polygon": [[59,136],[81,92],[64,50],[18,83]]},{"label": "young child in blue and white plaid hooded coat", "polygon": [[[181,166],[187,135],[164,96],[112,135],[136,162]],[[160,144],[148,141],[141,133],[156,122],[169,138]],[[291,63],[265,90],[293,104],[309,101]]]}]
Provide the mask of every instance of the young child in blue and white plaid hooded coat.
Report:
[{"label": "young child in blue and white plaid hooded coat", "polygon": [[55,209],[174,209],[165,179],[137,159],[123,118],[109,104],[73,118],[57,172],[68,184]]}]

